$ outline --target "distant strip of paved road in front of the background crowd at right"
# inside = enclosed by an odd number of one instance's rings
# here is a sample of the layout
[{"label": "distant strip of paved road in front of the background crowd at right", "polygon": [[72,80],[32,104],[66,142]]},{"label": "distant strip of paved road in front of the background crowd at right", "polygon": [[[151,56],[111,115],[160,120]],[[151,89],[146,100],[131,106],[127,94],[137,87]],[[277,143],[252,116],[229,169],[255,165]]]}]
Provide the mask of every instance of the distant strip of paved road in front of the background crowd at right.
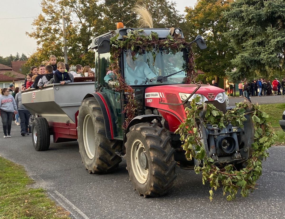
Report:
[{"label": "distant strip of paved road in front of the background crowd at right", "polygon": [[[243,101],[244,97],[229,97],[229,106],[235,106],[235,103]],[[252,103],[258,104],[270,104],[270,103],[285,103],[285,95],[276,96],[262,96],[262,97],[251,97]]]}]

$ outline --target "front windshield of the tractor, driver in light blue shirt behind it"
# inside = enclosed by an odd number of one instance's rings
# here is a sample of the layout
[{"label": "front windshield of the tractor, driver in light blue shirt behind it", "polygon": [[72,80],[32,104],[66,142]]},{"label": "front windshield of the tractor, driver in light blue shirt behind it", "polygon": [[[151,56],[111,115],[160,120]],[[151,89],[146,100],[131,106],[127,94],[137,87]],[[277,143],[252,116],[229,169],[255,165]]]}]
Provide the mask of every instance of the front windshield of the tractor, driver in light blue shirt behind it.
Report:
[{"label": "front windshield of the tractor, driver in light blue shirt behind it", "polygon": [[160,48],[159,51],[133,54],[127,50],[123,60],[124,77],[129,85],[179,84],[186,81],[187,62],[183,51],[174,54],[168,48]]}]

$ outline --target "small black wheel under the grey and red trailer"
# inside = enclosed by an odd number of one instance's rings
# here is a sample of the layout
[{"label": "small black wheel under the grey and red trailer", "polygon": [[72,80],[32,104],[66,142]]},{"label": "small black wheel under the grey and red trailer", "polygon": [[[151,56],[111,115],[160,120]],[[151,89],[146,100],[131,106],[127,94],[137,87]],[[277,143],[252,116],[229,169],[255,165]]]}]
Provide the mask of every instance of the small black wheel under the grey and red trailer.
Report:
[{"label": "small black wheel under the grey and red trailer", "polygon": [[46,151],[50,146],[50,130],[44,117],[37,117],[32,125],[32,141],[36,151]]}]

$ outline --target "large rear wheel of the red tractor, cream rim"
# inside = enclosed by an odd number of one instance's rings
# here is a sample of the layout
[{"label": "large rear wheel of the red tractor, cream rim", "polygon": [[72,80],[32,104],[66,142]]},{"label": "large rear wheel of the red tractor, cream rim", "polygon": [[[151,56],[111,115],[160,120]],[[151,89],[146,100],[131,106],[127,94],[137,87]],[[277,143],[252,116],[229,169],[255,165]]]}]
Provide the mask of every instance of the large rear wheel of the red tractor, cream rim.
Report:
[{"label": "large rear wheel of the red tractor, cream rim", "polygon": [[85,169],[96,174],[114,171],[122,161],[115,154],[116,149],[122,150],[122,144],[106,138],[103,114],[95,98],[82,101],[77,118],[79,152]]}]

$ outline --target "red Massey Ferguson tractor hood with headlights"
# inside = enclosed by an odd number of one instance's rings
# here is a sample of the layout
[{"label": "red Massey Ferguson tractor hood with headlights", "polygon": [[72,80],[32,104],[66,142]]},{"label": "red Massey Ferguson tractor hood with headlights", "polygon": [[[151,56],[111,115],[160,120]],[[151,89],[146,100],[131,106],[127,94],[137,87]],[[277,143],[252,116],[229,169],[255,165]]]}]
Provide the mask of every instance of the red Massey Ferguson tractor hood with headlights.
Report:
[{"label": "red Massey Ferguson tractor hood with headlights", "polygon": [[[200,102],[197,104],[212,103],[217,109],[226,112],[225,90],[211,85],[201,85],[188,103],[183,103],[187,97],[197,88],[194,84],[179,85],[160,85],[148,87],[144,93],[144,105],[146,109],[154,109],[153,114],[158,112],[165,120],[172,124],[169,127],[170,132],[174,132],[179,124],[186,118],[184,107],[189,106],[195,96],[200,96]],[[157,109],[157,110],[156,110]]]}]

